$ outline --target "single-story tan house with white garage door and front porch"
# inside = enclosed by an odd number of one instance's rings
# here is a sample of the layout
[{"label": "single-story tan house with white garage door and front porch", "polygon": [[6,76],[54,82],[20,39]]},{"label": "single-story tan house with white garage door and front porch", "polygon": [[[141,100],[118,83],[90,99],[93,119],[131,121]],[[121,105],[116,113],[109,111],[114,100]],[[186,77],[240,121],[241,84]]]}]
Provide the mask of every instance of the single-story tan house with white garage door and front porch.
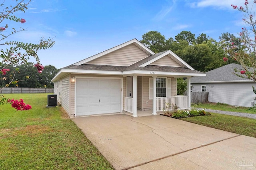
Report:
[{"label": "single-story tan house with white garage door and front porch", "polygon": [[[54,76],[54,94],[70,117],[137,109],[190,108],[188,96],[176,96],[176,78],[205,76],[172,51],[154,53],[137,39],[71,64]],[[170,105],[166,107],[166,103]]]}]

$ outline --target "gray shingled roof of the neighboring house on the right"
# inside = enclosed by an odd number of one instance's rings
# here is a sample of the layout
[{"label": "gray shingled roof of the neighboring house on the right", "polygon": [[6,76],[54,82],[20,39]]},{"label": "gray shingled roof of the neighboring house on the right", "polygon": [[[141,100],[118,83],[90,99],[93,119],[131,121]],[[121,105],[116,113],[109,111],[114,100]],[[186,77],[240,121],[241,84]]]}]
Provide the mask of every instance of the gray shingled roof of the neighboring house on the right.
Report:
[{"label": "gray shingled roof of the neighboring house on the right", "polygon": [[[237,70],[244,70],[240,64],[227,64],[206,72],[206,76],[204,77],[192,77],[191,83],[252,82],[252,80],[248,80],[247,78],[236,76],[234,74],[235,68]],[[236,72],[236,74],[240,74],[240,72]]]}]

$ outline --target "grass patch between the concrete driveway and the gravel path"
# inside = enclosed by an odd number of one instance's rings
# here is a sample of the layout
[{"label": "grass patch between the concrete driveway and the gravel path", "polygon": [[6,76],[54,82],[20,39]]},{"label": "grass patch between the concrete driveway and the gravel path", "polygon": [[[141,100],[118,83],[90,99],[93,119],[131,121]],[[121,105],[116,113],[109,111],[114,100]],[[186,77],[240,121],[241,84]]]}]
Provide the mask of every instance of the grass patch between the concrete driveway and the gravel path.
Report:
[{"label": "grass patch between the concrete driveway and the gravel path", "polygon": [[211,113],[208,116],[187,117],[181,120],[240,135],[256,137],[256,119]]}]

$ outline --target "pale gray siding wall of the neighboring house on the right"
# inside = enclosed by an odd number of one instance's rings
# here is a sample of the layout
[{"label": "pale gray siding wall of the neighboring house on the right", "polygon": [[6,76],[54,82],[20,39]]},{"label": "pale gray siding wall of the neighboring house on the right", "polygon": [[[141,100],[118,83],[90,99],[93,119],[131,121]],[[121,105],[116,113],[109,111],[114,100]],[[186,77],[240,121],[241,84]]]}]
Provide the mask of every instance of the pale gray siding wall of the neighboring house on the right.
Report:
[{"label": "pale gray siding wall of the neighboring house on the right", "polygon": [[256,95],[252,92],[252,86],[256,83],[191,83],[193,92],[200,92],[201,86],[206,86],[209,92],[208,101],[214,103],[225,103],[233,106],[252,107],[251,102]]}]

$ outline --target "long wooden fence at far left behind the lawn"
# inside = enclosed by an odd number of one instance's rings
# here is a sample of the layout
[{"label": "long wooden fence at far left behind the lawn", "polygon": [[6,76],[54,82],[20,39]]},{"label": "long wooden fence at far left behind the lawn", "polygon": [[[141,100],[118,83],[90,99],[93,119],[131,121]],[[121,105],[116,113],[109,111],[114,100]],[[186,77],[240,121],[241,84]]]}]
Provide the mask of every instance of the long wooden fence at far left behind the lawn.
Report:
[{"label": "long wooden fence at far left behind the lawn", "polygon": [[53,93],[53,88],[24,88],[24,87],[8,87],[2,89],[2,94],[10,93]]}]

